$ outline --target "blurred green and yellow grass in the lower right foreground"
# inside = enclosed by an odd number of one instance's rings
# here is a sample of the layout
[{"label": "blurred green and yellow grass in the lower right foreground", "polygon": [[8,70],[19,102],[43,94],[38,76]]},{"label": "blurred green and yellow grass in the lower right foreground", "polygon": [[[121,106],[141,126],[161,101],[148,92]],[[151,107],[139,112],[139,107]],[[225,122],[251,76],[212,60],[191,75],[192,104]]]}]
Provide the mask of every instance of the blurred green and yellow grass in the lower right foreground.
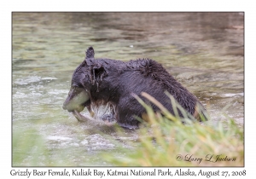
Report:
[{"label": "blurred green and yellow grass in the lower right foreground", "polygon": [[[152,107],[141,99],[148,117],[146,127],[140,129],[140,145],[126,151],[122,159],[105,155],[117,166],[243,166],[244,133],[232,118],[224,124],[200,123],[195,120],[175,118],[151,96],[149,101],[161,109],[154,113]],[[219,155],[219,157],[218,157]],[[223,159],[222,161],[216,159]],[[200,161],[201,159],[201,161]],[[228,160],[230,161],[224,161]],[[235,159],[235,161],[233,161]],[[192,161],[191,161],[192,160]],[[194,161],[193,161],[194,160]]]}]

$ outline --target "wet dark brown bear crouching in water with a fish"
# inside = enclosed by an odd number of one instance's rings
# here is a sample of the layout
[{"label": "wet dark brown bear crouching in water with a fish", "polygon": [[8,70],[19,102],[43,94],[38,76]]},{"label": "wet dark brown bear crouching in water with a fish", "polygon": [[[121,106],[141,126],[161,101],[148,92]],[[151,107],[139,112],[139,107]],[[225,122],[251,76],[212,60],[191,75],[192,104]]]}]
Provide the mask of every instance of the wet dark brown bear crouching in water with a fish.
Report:
[{"label": "wet dark brown bear crouching in water with a fish", "polygon": [[[137,128],[145,108],[134,95],[146,100],[142,92],[152,95],[174,114],[172,102],[165,94],[171,94],[177,103],[195,118],[201,120],[200,101],[189,90],[179,84],[158,62],[150,59],[116,61],[95,59],[94,49],[86,51],[84,61],[73,72],[71,89],[63,109],[73,113],[78,120],[91,119],[80,114],[87,107],[93,118],[106,123],[116,122],[125,128]],[[154,111],[159,108],[151,104]],[[103,111],[102,114],[97,114]],[[178,115],[183,113],[178,110]]]}]

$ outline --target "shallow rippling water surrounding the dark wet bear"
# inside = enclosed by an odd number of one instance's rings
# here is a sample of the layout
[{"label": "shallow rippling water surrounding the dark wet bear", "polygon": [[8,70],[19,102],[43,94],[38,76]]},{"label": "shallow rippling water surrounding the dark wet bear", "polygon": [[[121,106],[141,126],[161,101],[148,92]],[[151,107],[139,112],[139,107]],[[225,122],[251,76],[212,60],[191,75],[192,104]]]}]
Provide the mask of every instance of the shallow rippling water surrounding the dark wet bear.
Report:
[{"label": "shallow rippling water surrounding the dark wet bear", "polygon": [[159,61],[200,99],[213,121],[224,121],[226,113],[242,127],[243,18],[242,13],[13,13],[13,137],[40,139],[48,148],[32,160],[17,144],[13,165],[109,165],[99,153],[122,157],[119,147],[137,145],[136,130],[79,123],[61,108],[89,46],[96,57]]}]

